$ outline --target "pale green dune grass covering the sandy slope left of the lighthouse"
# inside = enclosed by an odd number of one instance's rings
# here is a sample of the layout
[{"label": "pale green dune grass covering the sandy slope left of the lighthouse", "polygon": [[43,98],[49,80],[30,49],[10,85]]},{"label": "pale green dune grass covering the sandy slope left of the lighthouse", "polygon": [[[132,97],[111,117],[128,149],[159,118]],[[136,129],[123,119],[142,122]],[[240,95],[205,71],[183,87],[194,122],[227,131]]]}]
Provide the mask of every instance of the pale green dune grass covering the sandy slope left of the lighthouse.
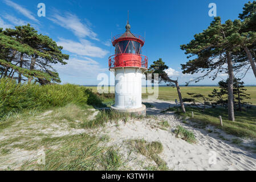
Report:
[{"label": "pale green dune grass covering the sandy slope left of the lighthouse", "polygon": [[[1,122],[0,136],[3,138],[0,141],[0,167],[7,165],[6,160],[10,161],[13,157],[19,159],[22,158],[23,153],[28,153],[35,158],[22,160],[17,164],[8,163],[9,166],[5,169],[47,171],[125,169],[125,160],[119,154],[119,148],[99,144],[108,142],[108,135],[90,133],[88,127],[81,126],[81,123],[91,121],[87,118],[94,112],[92,108],[92,106],[68,104],[44,112],[25,111]],[[111,113],[103,115],[110,114],[115,118],[115,114]],[[79,134],[80,132],[82,133]],[[37,163],[36,155],[40,150],[45,152],[45,165]]]}]

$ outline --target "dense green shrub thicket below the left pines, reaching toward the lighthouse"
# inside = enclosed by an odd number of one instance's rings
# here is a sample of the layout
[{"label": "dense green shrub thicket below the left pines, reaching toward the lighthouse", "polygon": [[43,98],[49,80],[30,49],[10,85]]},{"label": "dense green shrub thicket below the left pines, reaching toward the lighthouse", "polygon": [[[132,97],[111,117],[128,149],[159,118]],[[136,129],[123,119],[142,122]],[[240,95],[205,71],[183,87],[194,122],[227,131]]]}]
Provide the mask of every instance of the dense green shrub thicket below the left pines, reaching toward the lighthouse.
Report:
[{"label": "dense green shrub thicket below the left pines, reaching toward the lighthouse", "polygon": [[65,106],[69,103],[78,105],[101,106],[101,100],[91,89],[72,84],[17,84],[10,78],[0,79],[0,118],[7,113],[24,109],[47,109]]}]

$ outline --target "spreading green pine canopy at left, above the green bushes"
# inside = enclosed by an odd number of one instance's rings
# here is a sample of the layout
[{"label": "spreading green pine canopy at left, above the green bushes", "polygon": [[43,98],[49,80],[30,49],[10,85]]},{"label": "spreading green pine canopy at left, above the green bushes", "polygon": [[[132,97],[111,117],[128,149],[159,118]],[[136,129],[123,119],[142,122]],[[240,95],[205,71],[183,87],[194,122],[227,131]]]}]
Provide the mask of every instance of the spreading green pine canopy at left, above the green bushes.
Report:
[{"label": "spreading green pine canopy at left, above the green bushes", "polygon": [[[34,79],[40,84],[60,82],[52,64],[67,64],[64,60],[69,56],[63,54],[63,48],[48,36],[38,34],[28,24],[1,30],[0,40],[0,65],[4,69],[1,77],[17,78],[18,82],[26,77],[28,82]],[[14,77],[14,73],[18,77]]]}]

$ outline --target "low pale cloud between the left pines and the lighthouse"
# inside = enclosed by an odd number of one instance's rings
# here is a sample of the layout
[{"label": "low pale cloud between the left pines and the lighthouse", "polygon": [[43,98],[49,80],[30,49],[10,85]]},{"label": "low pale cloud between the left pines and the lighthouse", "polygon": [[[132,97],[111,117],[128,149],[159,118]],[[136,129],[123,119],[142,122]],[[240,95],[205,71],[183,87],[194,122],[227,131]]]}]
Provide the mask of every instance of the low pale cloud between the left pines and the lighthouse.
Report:
[{"label": "low pale cloud between the left pines and the lighthouse", "polygon": [[100,68],[97,61],[88,57],[83,57],[83,59],[72,58],[67,63],[67,65],[55,64],[53,67],[59,73],[70,77],[95,78],[99,73],[108,71],[107,68]]}]

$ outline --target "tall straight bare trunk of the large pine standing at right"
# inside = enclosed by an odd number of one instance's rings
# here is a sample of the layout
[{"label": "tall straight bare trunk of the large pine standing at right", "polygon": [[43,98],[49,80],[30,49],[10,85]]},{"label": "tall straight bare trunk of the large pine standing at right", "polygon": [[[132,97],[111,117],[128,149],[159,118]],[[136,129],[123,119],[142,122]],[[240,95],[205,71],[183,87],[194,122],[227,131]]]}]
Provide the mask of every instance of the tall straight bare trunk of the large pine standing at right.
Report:
[{"label": "tall straight bare trunk of the large pine standing at right", "polygon": [[227,68],[229,70],[229,82],[227,83],[227,108],[229,110],[229,120],[235,121],[233,94],[234,71],[230,52],[227,52]]}]

